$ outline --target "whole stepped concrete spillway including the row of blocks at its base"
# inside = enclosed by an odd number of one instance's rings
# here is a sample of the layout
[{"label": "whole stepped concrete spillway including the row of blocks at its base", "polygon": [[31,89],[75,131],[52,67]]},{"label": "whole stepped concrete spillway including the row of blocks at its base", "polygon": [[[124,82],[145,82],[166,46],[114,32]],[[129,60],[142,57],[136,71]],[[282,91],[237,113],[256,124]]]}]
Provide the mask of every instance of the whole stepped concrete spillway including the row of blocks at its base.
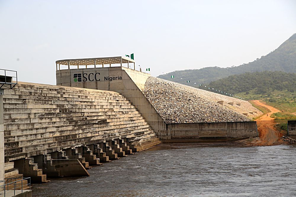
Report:
[{"label": "whole stepped concrete spillway including the row of blocks at its base", "polygon": [[[88,169],[160,143],[119,93],[33,83],[5,91],[4,131],[5,161],[38,182],[46,180],[41,169],[57,177],[87,175],[77,159]],[[65,169],[70,164],[76,174]]]}]

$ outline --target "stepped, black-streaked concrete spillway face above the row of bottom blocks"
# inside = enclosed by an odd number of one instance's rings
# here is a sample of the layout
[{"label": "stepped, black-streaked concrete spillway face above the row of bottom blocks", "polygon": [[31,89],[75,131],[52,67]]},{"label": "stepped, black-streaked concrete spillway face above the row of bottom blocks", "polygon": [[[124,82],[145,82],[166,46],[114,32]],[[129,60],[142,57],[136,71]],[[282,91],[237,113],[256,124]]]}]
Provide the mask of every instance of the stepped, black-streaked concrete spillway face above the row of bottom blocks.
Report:
[{"label": "stepped, black-streaked concrete spillway face above the row of bottom blocks", "polygon": [[137,150],[160,143],[117,92],[22,82],[5,90],[6,162],[116,139]]}]

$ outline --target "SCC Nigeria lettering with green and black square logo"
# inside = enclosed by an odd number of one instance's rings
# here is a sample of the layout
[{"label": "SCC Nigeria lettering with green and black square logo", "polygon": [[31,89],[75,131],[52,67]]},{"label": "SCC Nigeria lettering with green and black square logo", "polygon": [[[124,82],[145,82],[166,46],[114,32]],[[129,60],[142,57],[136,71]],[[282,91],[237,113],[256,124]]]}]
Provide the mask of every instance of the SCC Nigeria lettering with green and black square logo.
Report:
[{"label": "SCC Nigeria lettering with green and black square logo", "polygon": [[[113,81],[113,80],[121,80],[121,76],[101,76],[99,72],[97,73],[74,73],[73,75],[74,82],[93,82],[93,81]],[[101,80],[102,79],[102,80]]]}]

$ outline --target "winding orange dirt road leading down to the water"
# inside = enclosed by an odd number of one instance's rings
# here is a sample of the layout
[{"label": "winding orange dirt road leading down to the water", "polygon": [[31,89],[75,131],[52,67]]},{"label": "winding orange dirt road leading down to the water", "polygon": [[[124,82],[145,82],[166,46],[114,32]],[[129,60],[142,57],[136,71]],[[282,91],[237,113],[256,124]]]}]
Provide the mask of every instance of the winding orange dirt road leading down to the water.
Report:
[{"label": "winding orange dirt road leading down to the water", "polygon": [[278,141],[282,135],[278,131],[274,130],[274,118],[270,117],[271,114],[280,111],[274,107],[261,103],[259,100],[254,100],[254,102],[256,103],[256,105],[266,107],[271,111],[268,114],[265,114],[256,120],[260,137],[260,141],[258,141],[256,145],[270,146],[280,144]]}]

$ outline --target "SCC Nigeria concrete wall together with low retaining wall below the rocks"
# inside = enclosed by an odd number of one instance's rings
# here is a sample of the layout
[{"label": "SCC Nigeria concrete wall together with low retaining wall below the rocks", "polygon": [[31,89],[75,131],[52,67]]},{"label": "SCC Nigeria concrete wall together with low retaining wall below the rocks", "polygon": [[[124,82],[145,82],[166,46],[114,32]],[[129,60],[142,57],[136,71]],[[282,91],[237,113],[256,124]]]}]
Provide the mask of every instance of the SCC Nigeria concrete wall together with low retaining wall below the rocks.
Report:
[{"label": "SCC Nigeria concrete wall together with low retaining wall below the rocks", "polygon": [[[90,73],[90,79],[86,77],[84,78],[85,81],[83,81],[83,79],[81,79],[81,82],[74,81],[74,74],[81,74],[81,76],[89,76]],[[93,78],[93,76],[96,75],[96,73],[99,73],[97,74],[97,80]],[[173,128],[176,128],[177,130],[181,129],[181,131],[184,131],[184,134],[192,136],[192,139],[203,139],[212,141],[214,131],[211,128],[211,125],[221,126],[220,129],[216,129],[215,131],[215,135],[217,136],[215,139],[217,139],[218,136],[221,138],[221,140],[223,139],[224,141],[229,139],[242,139],[257,136],[256,122],[246,122],[245,124],[237,123],[234,124],[234,127],[231,127],[233,123],[230,123],[230,125],[228,125],[227,123],[210,123],[204,124],[204,126],[208,126],[208,128],[202,130],[196,130],[196,127],[198,125],[202,125],[202,123],[166,124],[164,119],[160,116],[157,110],[153,107],[153,105],[151,105],[149,100],[143,94],[145,83],[149,76],[150,74],[136,71],[133,69],[128,69],[125,67],[66,69],[57,71],[57,85],[119,92],[124,97],[126,97],[137,108],[137,110],[139,110],[139,112],[141,113],[141,115],[143,115],[148,124],[157,133],[158,137],[163,141],[171,141],[172,137],[175,136],[172,136],[170,134],[170,132],[174,130]],[[110,77],[113,77],[112,81],[109,80]],[[243,128],[243,126],[250,127]],[[227,134],[223,134],[223,132],[225,133],[228,129],[231,129],[228,131],[229,137],[227,137]],[[198,132],[192,133],[192,130],[200,131],[200,134]],[[176,131],[176,136],[178,136],[177,132],[178,131]],[[181,136],[182,135],[180,134],[180,137]]]}]

